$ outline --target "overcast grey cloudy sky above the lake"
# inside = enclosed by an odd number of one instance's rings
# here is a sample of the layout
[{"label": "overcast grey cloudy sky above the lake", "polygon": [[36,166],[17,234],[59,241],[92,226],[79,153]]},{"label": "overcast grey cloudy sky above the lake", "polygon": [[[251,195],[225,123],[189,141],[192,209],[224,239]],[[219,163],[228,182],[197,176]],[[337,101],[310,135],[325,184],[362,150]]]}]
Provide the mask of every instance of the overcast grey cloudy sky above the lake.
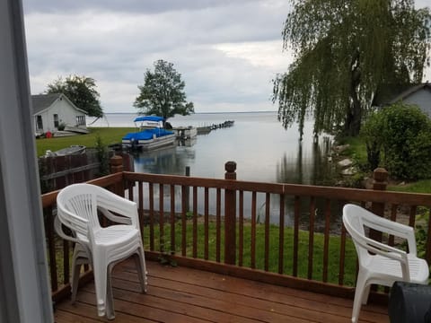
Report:
[{"label": "overcast grey cloudy sky above the lake", "polygon": [[136,111],[137,85],[158,59],[181,74],[196,112],[275,110],[271,80],[292,62],[282,50],[286,0],[22,2],[31,92],[85,75],[108,113]]}]

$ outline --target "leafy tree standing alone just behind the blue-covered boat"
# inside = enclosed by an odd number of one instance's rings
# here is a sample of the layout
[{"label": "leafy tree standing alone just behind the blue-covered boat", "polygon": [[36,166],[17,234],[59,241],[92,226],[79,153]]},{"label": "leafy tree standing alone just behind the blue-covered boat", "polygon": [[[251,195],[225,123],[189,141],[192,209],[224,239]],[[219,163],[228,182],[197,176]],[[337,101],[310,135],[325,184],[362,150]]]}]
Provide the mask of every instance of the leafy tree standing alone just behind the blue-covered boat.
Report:
[{"label": "leafy tree standing alone just behind the blue-covered boat", "polygon": [[154,73],[145,72],[144,85],[138,85],[140,91],[134,106],[139,113],[156,115],[165,120],[176,114],[182,116],[194,113],[193,102],[186,101],[184,81],[172,63],[162,59],[154,62]]}]

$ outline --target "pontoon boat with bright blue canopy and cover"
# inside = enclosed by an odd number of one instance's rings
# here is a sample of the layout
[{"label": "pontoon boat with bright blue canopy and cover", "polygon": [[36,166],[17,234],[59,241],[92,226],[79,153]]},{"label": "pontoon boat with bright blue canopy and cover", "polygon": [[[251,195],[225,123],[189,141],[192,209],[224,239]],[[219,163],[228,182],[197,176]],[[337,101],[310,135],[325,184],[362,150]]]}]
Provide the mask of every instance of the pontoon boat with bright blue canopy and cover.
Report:
[{"label": "pontoon boat with bright blue canopy and cover", "polygon": [[164,119],[156,116],[135,118],[140,122],[139,131],[123,136],[121,145],[124,149],[148,151],[175,143],[175,133],[163,127]]}]

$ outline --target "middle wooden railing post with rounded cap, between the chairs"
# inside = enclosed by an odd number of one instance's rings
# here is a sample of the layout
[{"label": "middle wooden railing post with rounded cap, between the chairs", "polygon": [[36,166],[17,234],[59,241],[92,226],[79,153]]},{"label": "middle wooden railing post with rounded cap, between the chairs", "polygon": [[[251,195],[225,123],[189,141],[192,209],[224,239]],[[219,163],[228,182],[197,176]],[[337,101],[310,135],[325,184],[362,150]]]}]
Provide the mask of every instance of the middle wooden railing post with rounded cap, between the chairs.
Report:
[{"label": "middle wooden railing post with rounded cap, between the chairs", "polygon": [[[236,179],[236,162],[224,164],[224,179]],[[224,263],[236,263],[236,192],[224,190]]]}]

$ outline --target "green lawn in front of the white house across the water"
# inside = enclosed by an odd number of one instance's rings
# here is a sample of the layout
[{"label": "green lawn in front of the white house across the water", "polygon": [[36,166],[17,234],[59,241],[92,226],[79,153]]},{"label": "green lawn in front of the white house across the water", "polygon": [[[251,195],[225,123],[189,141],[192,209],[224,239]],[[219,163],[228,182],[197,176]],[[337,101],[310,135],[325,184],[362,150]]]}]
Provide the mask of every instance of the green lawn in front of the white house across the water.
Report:
[{"label": "green lawn in front of the white house across the water", "polygon": [[89,129],[91,133],[87,135],[36,139],[38,156],[44,155],[47,150],[55,152],[73,144],[84,145],[88,148],[94,147],[98,136],[101,137],[103,144],[119,144],[124,135],[136,131],[135,127],[89,127]]}]

